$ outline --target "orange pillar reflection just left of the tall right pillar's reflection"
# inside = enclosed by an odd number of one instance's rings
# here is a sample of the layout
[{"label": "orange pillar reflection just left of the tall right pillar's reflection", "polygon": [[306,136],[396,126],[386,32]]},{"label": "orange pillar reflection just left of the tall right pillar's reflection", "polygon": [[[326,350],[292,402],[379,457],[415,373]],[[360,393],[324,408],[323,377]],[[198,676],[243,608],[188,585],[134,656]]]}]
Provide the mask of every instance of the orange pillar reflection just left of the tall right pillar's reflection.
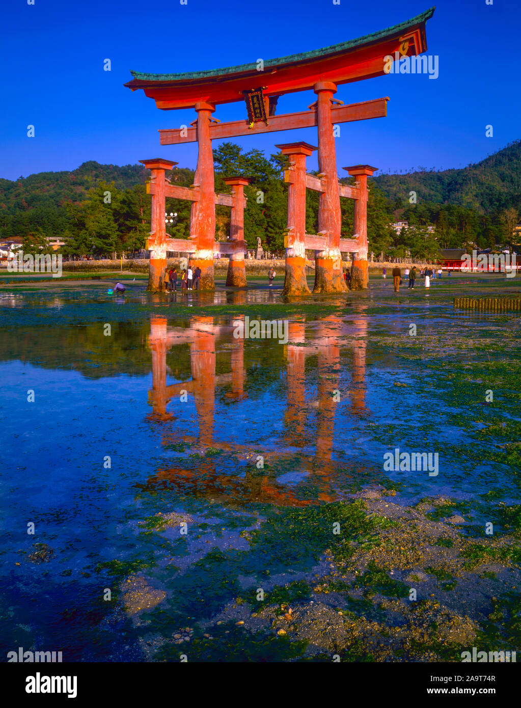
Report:
[{"label": "orange pillar reflection just left of the tall right pillar's reflection", "polygon": [[305,362],[306,348],[297,346],[304,344],[304,322],[290,322],[287,343],[287,407],[285,424],[288,428],[286,441],[288,445],[302,445],[304,442],[304,426],[306,423],[306,388]]}]

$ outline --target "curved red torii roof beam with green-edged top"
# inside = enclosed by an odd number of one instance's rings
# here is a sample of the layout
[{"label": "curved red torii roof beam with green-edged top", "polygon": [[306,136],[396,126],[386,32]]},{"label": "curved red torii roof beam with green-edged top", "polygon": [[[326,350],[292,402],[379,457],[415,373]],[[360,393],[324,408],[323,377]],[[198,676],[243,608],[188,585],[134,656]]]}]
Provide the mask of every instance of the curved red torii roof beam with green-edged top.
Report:
[{"label": "curved red torii roof beam with green-edged top", "polygon": [[[184,74],[130,72],[134,78],[125,86],[132,91],[144,89],[158,108],[171,110],[190,108],[203,101],[213,104],[242,101],[243,91],[260,85],[265,87],[265,96],[280,96],[312,89],[318,81],[348,84],[372,79],[385,73],[385,56],[394,56],[400,50],[404,56],[415,56],[427,50],[425,23],[434,10],[432,7],[411,20],[355,40],[268,59],[262,72],[258,71],[257,62]],[[406,40],[408,46],[404,45]]]}]

